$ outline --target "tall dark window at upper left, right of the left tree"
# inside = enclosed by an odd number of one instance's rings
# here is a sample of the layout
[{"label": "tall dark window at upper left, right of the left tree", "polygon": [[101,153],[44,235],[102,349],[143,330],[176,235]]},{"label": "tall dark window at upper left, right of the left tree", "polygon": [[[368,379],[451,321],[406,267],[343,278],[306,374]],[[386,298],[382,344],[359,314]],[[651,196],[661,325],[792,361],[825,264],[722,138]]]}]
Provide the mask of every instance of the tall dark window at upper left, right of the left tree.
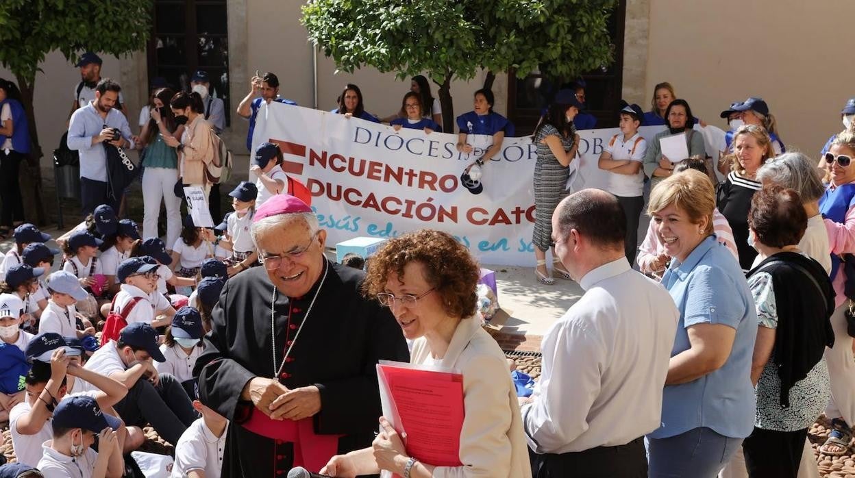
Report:
[{"label": "tall dark window at upper left, right of the left tree", "polygon": [[197,70],[208,73],[209,94],[226,106],[231,124],[228,77],[227,0],[155,0],[148,47],[149,83],[165,78],[176,91],[190,91]]}]

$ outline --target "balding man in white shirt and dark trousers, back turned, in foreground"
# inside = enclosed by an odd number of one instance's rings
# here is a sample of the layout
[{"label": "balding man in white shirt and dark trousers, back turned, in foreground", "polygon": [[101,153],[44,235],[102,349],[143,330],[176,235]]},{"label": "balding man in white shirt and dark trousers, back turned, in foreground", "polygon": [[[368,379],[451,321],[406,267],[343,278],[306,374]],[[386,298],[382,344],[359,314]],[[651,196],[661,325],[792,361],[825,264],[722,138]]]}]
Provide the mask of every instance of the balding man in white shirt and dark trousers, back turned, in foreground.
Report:
[{"label": "balding man in white shirt and dark trousers, back turned, in foreground", "polygon": [[647,475],[679,319],[665,289],[630,269],[617,198],[586,189],[552,215],[555,251],[585,295],[545,334],[543,375],[522,419],[540,477]]}]

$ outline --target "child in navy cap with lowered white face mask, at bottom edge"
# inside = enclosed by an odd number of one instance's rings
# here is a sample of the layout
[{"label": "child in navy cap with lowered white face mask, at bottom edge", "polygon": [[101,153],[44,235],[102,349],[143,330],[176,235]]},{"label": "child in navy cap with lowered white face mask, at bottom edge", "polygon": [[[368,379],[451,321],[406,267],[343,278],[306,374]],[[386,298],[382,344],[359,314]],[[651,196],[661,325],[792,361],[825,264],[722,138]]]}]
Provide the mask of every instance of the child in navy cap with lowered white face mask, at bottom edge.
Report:
[{"label": "child in navy cap with lowered white face mask, at bottom edge", "polygon": [[[121,420],[101,411],[95,398],[63,400],[53,415],[53,440],[44,442],[37,468],[45,478],[119,477],[125,472],[115,430]],[[98,437],[98,451],[91,449]]]}]

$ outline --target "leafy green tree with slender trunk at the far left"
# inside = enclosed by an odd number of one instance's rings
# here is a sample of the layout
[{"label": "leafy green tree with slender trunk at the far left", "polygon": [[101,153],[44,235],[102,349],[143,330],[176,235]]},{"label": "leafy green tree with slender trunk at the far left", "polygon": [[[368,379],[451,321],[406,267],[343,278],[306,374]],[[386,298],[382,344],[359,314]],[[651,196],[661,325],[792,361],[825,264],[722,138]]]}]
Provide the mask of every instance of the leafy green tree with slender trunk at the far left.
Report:
[{"label": "leafy green tree with slender trunk at the far left", "polygon": [[35,151],[31,166],[36,180],[22,192],[27,215],[38,212],[27,220],[45,222],[38,194],[41,148],[32,109],[38,65],[53,50],[61,51],[69,63],[87,50],[115,56],[142,50],[151,31],[151,8],[151,0],[0,0],[0,64],[15,74]]}]

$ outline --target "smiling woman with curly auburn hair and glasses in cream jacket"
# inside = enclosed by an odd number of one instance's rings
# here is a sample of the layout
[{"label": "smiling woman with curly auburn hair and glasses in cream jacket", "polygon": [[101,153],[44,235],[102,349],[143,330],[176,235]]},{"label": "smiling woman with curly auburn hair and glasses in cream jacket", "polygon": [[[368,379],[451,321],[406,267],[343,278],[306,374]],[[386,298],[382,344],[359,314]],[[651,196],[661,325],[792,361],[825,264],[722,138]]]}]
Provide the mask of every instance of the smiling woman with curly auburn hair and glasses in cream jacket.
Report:
[{"label": "smiling woman with curly auburn hair and glasses in cream jacket", "polygon": [[529,477],[528,446],[508,366],[475,314],[478,264],[451,235],[433,230],[389,240],[369,260],[363,291],[376,297],[416,339],[411,363],[463,374],[465,418],[459,467],[436,467],[409,457],[385,417],[371,448],[333,457],[321,474],[371,475],[381,469],[411,477]]}]

